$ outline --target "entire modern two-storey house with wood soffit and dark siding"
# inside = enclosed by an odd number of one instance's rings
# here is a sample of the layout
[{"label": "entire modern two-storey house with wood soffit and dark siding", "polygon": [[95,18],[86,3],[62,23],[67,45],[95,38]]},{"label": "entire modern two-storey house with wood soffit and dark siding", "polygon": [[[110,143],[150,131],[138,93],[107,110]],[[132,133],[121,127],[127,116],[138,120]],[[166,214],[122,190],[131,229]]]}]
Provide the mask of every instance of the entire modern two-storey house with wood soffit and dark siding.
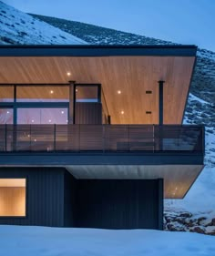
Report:
[{"label": "entire modern two-storey house with wood soffit and dark siding", "polygon": [[203,169],[196,46],[0,46],[0,224],[162,229]]}]

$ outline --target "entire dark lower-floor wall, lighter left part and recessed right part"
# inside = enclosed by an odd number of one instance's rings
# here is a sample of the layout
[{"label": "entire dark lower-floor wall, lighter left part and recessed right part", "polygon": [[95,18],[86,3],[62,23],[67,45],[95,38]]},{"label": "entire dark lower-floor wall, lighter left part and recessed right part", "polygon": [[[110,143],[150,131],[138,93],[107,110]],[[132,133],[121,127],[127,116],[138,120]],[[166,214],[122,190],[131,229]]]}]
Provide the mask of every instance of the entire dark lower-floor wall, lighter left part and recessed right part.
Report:
[{"label": "entire dark lower-floor wall, lighter left part and recessed right part", "polygon": [[0,179],[21,178],[26,216],[2,216],[0,224],[163,229],[162,179],[75,179],[64,168],[0,169]]}]

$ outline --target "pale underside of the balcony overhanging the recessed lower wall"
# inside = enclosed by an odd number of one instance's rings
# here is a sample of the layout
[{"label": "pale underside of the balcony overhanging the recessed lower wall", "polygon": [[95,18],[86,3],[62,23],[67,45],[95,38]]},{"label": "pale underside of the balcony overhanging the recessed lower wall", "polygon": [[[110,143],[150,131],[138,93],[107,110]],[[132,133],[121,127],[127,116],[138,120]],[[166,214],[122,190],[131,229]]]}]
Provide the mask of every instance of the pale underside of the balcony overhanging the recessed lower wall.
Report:
[{"label": "pale underside of the balcony overhanging the recessed lower wall", "polygon": [[76,179],[164,179],[164,198],[182,199],[201,165],[67,166]]}]

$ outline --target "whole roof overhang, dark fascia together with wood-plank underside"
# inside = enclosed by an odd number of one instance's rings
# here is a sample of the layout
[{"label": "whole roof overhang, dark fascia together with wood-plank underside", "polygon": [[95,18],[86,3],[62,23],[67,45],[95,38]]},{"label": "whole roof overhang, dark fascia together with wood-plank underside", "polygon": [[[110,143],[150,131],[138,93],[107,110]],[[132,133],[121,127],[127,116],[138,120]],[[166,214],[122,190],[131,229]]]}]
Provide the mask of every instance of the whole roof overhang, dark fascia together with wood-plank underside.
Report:
[{"label": "whole roof overhang, dark fascia together with wood-plank underside", "polygon": [[163,80],[163,123],[181,124],[196,51],[196,46],[0,46],[0,84],[101,84],[112,124],[159,124]]}]

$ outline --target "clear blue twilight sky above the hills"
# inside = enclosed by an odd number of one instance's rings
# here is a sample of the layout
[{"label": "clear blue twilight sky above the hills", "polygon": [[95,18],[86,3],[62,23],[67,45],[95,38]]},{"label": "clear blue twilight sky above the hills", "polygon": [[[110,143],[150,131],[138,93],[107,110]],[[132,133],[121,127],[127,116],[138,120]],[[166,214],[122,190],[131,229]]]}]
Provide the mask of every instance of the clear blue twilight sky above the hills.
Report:
[{"label": "clear blue twilight sky above the hills", "polygon": [[3,0],[26,13],[105,26],[215,52],[215,0]]}]

